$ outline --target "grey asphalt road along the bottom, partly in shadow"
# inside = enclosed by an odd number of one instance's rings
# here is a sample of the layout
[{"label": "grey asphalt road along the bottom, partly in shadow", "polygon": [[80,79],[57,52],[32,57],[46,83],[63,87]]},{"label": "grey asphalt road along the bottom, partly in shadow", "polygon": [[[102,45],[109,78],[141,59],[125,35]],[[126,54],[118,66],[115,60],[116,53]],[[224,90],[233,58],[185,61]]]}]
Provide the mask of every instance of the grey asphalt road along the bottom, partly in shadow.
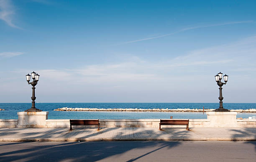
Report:
[{"label": "grey asphalt road along the bottom, partly in shadow", "polygon": [[256,141],[0,142],[0,162],[256,162]]}]

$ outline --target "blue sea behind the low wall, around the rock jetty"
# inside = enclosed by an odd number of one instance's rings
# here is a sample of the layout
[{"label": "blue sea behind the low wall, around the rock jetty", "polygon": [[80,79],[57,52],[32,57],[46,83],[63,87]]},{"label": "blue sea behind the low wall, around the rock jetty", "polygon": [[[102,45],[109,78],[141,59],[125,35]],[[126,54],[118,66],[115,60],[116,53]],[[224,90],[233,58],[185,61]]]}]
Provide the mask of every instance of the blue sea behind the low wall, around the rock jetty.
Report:
[{"label": "blue sea behind the low wall, around the rock jetty", "polygon": [[[0,103],[0,119],[18,119],[17,112],[27,110],[31,103]],[[138,108],[138,109],[216,109],[219,103],[36,103],[36,108],[48,111],[48,119],[206,119],[203,112],[85,112],[54,111],[69,108]],[[223,103],[225,109],[256,109],[256,103]],[[238,113],[237,117],[248,118],[256,113]]]}]

